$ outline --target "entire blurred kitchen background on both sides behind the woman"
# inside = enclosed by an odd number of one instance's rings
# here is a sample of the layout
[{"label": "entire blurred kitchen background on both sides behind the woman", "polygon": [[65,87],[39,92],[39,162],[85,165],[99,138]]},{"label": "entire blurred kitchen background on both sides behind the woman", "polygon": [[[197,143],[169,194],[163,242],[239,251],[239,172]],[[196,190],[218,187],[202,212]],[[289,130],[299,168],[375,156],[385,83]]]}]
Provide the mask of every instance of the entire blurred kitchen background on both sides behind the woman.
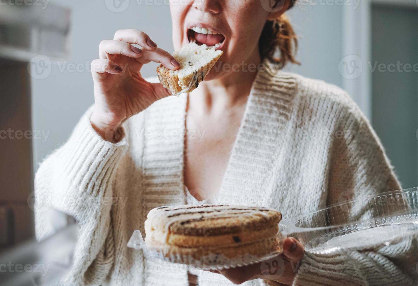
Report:
[{"label": "entire blurred kitchen background on both sides behind the woman", "polygon": [[[135,28],[172,52],[167,3],[0,1],[0,130],[14,132],[0,134],[0,249],[33,236],[33,174],[94,102],[100,41]],[[418,186],[418,0],[310,0],[288,15],[302,65],[286,70],[347,90],[403,187]],[[28,132],[18,139],[16,130]]]}]

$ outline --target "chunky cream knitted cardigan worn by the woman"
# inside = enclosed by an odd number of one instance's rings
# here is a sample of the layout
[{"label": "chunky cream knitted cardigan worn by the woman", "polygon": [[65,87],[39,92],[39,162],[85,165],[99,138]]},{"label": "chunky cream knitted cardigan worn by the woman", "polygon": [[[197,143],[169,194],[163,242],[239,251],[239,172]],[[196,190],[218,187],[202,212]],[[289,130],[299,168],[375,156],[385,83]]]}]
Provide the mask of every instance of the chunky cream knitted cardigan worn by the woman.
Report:
[{"label": "chunky cream knitted cardigan worn by the woman", "polygon": [[[188,285],[185,266],[126,246],[135,229],[144,233],[151,208],[185,203],[186,100],[168,97],[130,118],[117,144],[94,131],[89,109],[41,164],[36,197],[79,222],[74,266],[59,285]],[[396,189],[379,140],[344,91],[267,68],[253,82],[216,203],[270,206],[286,218],[336,203],[347,190]],[[36,213],[38,239],[54,232],[48,212]],[[347,255],[306,253],[294,285],[417,285],[417,252],[411,240]],[[199,271],[199,285],[232,283]]]}]

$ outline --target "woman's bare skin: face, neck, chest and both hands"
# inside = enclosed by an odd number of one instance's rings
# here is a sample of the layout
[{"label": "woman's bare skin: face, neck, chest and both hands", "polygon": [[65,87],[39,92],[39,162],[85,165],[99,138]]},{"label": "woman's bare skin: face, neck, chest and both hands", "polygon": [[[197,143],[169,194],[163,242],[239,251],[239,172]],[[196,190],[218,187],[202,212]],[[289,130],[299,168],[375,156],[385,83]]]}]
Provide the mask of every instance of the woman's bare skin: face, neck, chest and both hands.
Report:
[{"label": "woman's bare skin: face, neck, chest and both hands", "polygon": [[[258,40],[265,21],[278,18],[287,10],[289,3],[284,2],[279,11],[269,13],[261,5],[269,0],[190,0],[186,4],[186,0],[170,1],[176,50],[188,43],[187,23],[204,23],[225,37],[219,71],[212,69],[199,88],[193,90],[186,107],[184,183],[192,195],[212,197],[220,189],[256,75],[256,71],[226,71],[223,67],[240,65],[242,62],[257,66],[261,60]],[[283,3],[286,0],[279,1]],[[161,84],[149,83],[140,76],[142,66],[155,61],[172,70],[179,68],[170,53],[157,48],[155,43],[152,47],[148,43],[148,35],[138,32],[134,29],[117,31],[115,38],[119,40],[102,41],[99,46],[100,58],[92,62],[92,66],[95,66],[92,70],[95,108],[90,121],[94,130],[111,142],[120,140],[120,135],[115,135],[122,122],[145,110],[155,100],[170,95]],[[133,38],[138,38],[146,53],[135,52],[130,45],[126,45]],[[122,67],[128,68],[127,72],[122,73]],[[196,132],[189,131],[198,131],[199,136],[191,138],[189,134]],[[233,239],[237,242],[242,237]],[[283,242],[285,261],[298,263],[303,252],[303,246],[295,239],[286,238]],[[292,269],[289,262],[286,263],[286,269]],[[265,277],[260,266],[257,263],[214,272],[240,284]],[[291,271],[280,277],[269,278],[292,284],[294,274]]]}]

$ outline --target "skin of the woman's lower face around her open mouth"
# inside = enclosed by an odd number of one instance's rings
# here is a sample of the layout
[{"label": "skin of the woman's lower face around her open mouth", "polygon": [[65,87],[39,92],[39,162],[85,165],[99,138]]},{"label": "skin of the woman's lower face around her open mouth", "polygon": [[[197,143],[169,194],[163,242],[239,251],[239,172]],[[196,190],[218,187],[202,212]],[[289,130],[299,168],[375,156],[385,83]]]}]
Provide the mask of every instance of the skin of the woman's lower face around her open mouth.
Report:
[{"label": "skin of the woman's lower face around her open mouth", "polygon": [[[176,50],[188,43],[184,25],[190,21],[202,21],[220,28],[225,36],[226,42],[222,48],[224,54],[219,60],[223,64],[231,66],[242,61],[248,63],[258,57],[258,38],[269,15],[260,0],[199,0],[199,8],[190,4],[178,4],[182,1],[171,2],[173,44]],[[224,72],[222,68],[217,73],[212,70],[206,80],[227,76],[229,73],[233,72]]]}]

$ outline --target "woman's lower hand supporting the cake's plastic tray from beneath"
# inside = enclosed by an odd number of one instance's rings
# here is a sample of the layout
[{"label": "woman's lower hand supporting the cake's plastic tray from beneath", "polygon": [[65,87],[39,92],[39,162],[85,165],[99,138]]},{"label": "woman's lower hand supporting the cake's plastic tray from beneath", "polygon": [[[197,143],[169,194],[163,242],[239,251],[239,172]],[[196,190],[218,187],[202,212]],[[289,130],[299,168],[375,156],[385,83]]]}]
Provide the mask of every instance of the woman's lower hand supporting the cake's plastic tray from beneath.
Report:
[{"label": "woman's lower hand supporting the cake's plastic tray from beneath", "polygon": [[274,281],[273,285],[292,285],[305,249],[295,238],[286,238],[283,242],[283,253],[257,264],[212,271],[222,274],[234,284],[241,284],[252,279]]}]

